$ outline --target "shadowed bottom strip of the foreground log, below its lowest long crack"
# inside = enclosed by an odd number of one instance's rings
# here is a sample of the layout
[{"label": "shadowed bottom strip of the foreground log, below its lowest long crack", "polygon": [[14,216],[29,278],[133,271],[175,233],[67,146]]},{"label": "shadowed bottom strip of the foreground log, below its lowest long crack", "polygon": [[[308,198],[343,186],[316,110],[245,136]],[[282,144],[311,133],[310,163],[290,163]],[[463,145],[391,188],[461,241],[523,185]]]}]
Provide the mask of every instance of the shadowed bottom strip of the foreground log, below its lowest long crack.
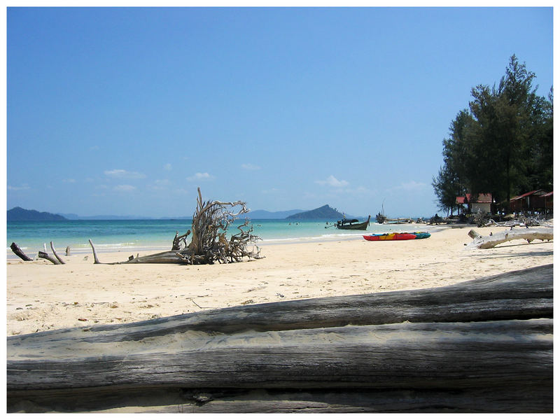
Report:
[{"label": "shadowed bottom strip of the foreground log, below its lowest long crack", "polygon": [[[44,391],[27,400],[10,398],[10,412],[134,413],[391,413],[551,412],[542,388],[416,389],[233,389],[76,388],[71,395]],[[28,393],[28,397],[29,394]],[[503,398],[508,395],[510,398]],[[8,400],[8,402],[10,401]]]}]

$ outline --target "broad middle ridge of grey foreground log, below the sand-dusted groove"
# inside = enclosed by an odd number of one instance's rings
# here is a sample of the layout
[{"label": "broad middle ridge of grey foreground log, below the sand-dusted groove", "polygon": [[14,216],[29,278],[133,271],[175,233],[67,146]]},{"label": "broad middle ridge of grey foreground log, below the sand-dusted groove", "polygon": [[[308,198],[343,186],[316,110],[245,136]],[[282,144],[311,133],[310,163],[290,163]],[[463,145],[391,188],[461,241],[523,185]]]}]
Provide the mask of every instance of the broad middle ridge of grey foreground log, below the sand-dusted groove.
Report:
[{"label": "broad middle ridge of grey foreground log, below the sand-dusted groove", "polygon": [[185,333],[89,347],[87,356],[76,347],[22,354],[8,363],[8,387],[469,388],[552,379],[552,364],[541,361],[552,362],[549,319]]}]

